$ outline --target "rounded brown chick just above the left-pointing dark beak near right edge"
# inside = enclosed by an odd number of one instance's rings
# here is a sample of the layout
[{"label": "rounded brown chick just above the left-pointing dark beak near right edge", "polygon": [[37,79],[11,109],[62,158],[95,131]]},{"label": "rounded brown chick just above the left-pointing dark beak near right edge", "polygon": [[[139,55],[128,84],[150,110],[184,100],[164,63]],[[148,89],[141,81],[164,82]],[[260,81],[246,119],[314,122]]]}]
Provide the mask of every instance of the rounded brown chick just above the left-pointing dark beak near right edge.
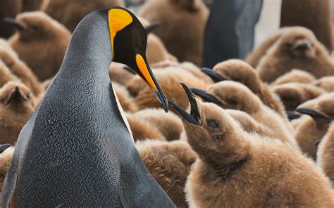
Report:
[{"label": "rounded brown chick just above the left-pointing dark beak near right edge", "polygon": [[287,83],[271,87],[271,91],[276,93],[286,110],[295,110],[298,105],[312,100],[326,93],[320,87],[311,84]]}]

